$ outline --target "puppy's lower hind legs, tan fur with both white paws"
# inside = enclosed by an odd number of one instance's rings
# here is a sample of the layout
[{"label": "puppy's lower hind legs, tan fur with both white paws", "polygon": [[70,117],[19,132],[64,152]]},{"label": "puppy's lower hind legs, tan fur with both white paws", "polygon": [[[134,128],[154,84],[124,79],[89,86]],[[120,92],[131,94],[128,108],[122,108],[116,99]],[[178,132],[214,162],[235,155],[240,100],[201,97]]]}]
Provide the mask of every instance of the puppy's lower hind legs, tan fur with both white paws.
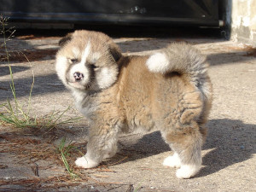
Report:
[{"label": "puppy's lower hind legs, tan fur with both white paws", "polygon": [[164,133],[166,143],[170,145],[174,154],[164,160],[164,166],[179,168],[178,178],[195,176],[201,169],[202,136],[196,123],[184,125],[176,130]]}]

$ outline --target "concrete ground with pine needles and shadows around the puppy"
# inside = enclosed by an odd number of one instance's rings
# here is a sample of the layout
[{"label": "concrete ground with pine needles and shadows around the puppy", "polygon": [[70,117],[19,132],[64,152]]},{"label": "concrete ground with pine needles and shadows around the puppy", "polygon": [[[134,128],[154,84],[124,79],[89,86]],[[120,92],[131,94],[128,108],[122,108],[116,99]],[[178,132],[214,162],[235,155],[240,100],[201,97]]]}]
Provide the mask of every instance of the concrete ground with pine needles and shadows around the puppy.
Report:
[{"label": "concrete ground with pine needles and shadows around the puppy", "polygon": [[[73,107],[72,97],[55,75],[55,51],[62,36],[56,33],[23,32],[8,42],[15,91],[24,108],[34,74],[30,114],[36,119]],[[67,144],[72,142],[85,152],[88,125],[84,119],[50,131],[0,125],[0,191],[256,191],[256,49],[226,41],[209,30],[133,29],[130,35],[108,34],[126,54],[145,55],[186,41],[207,55],[214,100],[201,172],[190,179],[175,177],[175,169],[161,165],[172,152],[160,133],[153,132],[120,137],[119,153],[95,169],[74,167],[80,154],[70,150],[68,163],[80,175],[72,179],[57,148],[66,137]],[[0,104],[13,98],[4,54],[1,48]],[[61,119],[79,115],[70,109]]]}]

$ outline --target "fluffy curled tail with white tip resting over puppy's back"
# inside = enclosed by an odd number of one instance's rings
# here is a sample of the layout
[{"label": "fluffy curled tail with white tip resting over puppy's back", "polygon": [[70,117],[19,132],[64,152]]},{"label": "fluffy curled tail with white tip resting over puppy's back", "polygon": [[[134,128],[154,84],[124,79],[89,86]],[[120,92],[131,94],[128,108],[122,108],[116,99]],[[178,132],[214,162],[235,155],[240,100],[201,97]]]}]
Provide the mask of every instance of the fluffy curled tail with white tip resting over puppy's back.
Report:
[{"label": "fluffy curled tail with white tip resting over puppy's back", "polygon": [[195,83],[207,76],[206,57],[198,49],[185,43],[170,44],[149,56],[147,66],[153,73],[172,73],[188,75]]}]

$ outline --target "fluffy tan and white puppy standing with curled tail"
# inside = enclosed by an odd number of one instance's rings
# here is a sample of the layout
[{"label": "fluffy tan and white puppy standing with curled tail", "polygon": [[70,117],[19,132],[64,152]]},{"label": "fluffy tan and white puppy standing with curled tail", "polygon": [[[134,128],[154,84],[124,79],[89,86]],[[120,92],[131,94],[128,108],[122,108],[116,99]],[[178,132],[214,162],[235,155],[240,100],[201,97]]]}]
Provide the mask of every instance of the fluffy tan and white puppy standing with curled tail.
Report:
[{"label": "fluffy tan and white puppy standing with curled tail", "polygon": [[164,166],[179,178],[201,168],[212,84],[207,62],[189,44],[170,44],[153,55],[125,56],[102,32],[76,31],[60,41],[56,72],[90,122],[87,153],[77,166],[90,168],[117,151],[120,132],[160,131],[174,154]]}]

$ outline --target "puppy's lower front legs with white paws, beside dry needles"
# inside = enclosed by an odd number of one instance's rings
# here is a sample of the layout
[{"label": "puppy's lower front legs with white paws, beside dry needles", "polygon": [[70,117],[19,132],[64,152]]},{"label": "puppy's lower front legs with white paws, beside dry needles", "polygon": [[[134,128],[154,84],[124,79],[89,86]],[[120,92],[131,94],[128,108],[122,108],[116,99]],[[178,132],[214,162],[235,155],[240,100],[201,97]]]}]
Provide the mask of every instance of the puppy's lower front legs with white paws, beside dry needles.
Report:
[{"label": "puppy's lower front legs with white paws, beside dry needles", "polygon": [[112,157],[117,151],[117,131],[107,125],[91,127],[87,153],[79,157],[75,164],[83,168],[98,166],[103,159]]}]

